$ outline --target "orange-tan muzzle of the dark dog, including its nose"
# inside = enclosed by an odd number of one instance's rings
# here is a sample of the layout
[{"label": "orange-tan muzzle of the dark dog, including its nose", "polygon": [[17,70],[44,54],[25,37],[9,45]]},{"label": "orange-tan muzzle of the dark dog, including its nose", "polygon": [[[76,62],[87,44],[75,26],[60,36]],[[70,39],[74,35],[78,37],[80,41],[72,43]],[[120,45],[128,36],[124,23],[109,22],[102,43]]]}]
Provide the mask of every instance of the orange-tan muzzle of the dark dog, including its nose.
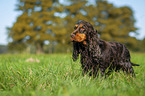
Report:
[{"label": "orange-tan muzzle of the dark dog, including its nose", "polygon": [[76,33],[76,34],[73,34],[71,35],[71,41],[76,41],[76,42],[82,42],[82,41],[85,41],[86,40],[86,35],[85,34],[82,34],[82,33]]}]

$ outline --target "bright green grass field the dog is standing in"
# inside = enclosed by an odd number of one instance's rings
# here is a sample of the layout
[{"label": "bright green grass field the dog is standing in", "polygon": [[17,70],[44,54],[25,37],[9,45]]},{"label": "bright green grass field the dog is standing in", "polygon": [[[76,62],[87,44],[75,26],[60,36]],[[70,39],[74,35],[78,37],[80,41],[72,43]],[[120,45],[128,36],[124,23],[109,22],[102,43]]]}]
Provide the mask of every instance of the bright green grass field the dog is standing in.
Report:
[{"label": "bright green grass field the dog is standing in", "polygon": [[[71,54],[0,55],[0,96],[145,96],[145,54],[132,53],[136,78],[83,76]],[[26,62],[34,58],[40,62]]]}]

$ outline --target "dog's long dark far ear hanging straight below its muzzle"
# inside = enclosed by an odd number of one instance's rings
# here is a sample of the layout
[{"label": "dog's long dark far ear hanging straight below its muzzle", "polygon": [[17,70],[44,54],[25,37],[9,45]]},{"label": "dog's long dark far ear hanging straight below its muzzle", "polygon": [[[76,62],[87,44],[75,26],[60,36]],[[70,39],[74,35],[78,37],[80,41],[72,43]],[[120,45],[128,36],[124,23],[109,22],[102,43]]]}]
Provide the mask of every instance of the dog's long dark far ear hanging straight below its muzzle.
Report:
[{"label": "dog's long dark far ear hanging straight below its muzzle", "polygon": [[73,42],[73,61],[76,61],[78,59],[80,53],[79,43]]}]

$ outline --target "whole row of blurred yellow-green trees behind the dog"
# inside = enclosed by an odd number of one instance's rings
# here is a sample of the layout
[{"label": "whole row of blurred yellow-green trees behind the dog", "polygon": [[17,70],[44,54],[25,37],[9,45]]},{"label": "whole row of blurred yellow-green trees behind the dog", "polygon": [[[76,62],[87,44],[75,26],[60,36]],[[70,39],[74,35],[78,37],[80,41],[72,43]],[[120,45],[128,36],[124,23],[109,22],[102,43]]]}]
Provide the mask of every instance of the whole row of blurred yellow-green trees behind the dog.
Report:
[{"label": "whole row of blurred yellow-green trees behind the dog", "polygon": [[[116,7],[105,0],[18,0],[17,17],[7,28],[11,52],[70,52],[70,33],[78,20],[89,21],[101,39],[124,43],[132,50],[143,50],[145,40],[137,40],[133,11],[127,6]],[[140,44],[140,46],[136,46]]]}]

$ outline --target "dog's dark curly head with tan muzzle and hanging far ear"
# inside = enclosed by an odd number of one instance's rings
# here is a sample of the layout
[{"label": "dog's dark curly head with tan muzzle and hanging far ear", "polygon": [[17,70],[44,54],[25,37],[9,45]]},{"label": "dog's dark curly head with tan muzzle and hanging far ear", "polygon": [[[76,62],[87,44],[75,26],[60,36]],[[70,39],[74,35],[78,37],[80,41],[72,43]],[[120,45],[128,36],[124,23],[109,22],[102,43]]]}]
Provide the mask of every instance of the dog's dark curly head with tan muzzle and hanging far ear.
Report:
[{"label": "dog's dark curly head with tan muzzle and hanging far ear", "polygon": [[[81,45],[91,44],[94,38],[97,38],[97,31],[87,21],[80,20],[74,26],[71,33],[71,41],[73,42],[73,59],[76,60],[80,53]],[[81,44],[81,45],[80,45]]]}]

